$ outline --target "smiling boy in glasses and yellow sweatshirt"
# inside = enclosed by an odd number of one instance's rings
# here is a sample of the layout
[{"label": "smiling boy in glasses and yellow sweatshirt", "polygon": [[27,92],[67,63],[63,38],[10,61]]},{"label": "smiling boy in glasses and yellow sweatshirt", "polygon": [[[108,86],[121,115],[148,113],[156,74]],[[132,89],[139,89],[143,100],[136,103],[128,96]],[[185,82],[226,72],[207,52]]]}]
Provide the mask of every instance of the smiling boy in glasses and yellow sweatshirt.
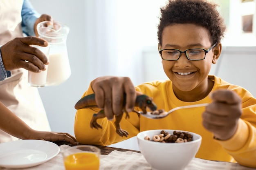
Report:
[{"label": "smiling boy in glasses and yellow sweatshirt", "polygon": [[[161,9],[158,25],[159,53],[169,80],[134,87],[128,77],[94,79],[83,96],[95,93],[106,118],[102,130],[90,128],[95,110],[77,110],[75,136],[83,144],[110,145],[150,129],[176,129],[198,133],[202,144],[196,157],[238,162],[256,168],[256,99],[240,86],[208,75],[220,57],[225,24],[216,4],[203,0],[169,0]],[[130,113],[120,126],[128,137],[115,133],[114,115],[134,108],[136,91],[153,98],[158,109],[209,103],[206,107],[176,110],[163,119],[147,119]],[[136,108],[135,108],[136,109]]]}]

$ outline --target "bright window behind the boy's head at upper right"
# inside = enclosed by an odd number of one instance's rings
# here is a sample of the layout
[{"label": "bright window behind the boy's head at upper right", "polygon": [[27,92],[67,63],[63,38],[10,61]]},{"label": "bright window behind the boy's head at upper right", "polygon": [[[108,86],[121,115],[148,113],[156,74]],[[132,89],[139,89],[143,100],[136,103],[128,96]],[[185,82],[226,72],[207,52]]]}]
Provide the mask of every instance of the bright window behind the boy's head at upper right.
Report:
[{"label": "bright window behind the boy's head at upper right", "polygon": [[227,31],[225,46],[256,46],[255,0],[212,0],[220,5]]}]

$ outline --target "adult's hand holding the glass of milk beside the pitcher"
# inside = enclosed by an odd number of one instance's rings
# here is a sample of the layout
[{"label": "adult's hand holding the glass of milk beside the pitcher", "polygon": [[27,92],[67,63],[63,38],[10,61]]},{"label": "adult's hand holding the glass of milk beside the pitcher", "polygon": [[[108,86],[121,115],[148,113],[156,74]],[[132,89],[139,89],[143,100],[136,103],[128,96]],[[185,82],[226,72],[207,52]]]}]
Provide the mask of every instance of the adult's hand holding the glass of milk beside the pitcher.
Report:
[{"label": "adult's hand holding the glass of milk beside the pitcher", "polygon": [[48,42],[34,36],[15,38],[1,47],[4,68],[11,71],[25,68],[29,71],[40,72],[45,70],[49,61],[45,54],[30,45],[47,46]]}]

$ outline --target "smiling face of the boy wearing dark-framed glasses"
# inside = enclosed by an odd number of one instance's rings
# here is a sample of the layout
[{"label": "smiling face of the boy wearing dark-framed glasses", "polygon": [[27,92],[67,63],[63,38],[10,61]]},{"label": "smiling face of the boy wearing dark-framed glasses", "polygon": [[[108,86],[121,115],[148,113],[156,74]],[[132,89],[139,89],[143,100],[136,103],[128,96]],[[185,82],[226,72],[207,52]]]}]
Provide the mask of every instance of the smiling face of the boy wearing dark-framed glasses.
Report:
[{"label": "smiling face of the boy wearing dark-framed glasses", "polygon": [[[186,49],[203,48],[209,49],[211,44],[209,31],[202,26],[195,24],[173,24],[166,26],[162,33],[161,49]],[[218,45],[218,44],[217,44]],[[207,76],[211,69],[211,64],[216,63],[218,55],[214,55],[213,50],[206,54],[204,60],[188,60],[184,53],[181,53],[179,60],[162,60],[164,72],[173,82],[174,90],[204,91],[208,87]]]}]

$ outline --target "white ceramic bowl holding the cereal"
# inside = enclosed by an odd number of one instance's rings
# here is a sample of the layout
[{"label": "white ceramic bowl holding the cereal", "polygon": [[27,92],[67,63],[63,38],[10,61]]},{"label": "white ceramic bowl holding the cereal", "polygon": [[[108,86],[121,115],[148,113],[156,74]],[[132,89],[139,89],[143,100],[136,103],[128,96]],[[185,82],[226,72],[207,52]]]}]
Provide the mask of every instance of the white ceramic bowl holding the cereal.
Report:
[{"label": "white ceramic bowl holding the cereal", "polygon": [[[193,135],[193,141],[184,143],[162,143],[144,139],[149,136],[152,140],[153,136],[159,135],[161,130],[165,129],[139,132],[137,139],[141,153],[150,164],[152,170],[184,170],[198,152],[202,137],[196,133],[189,132]],[[173,135],[173,131],[175,130],[165,130],[171,135]]]}]

